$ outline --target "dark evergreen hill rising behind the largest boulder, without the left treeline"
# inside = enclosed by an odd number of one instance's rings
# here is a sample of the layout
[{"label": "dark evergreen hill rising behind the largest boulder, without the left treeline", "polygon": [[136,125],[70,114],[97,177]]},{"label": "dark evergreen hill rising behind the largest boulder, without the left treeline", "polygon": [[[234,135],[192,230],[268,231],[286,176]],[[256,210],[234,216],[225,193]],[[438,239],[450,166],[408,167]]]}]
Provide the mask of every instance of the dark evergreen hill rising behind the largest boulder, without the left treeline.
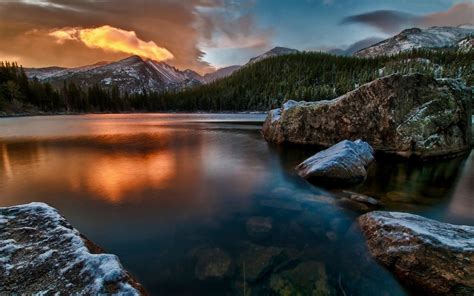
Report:
[{"label": "dark evergreen hill rising behind the largest boulder, without the left treeline", "polygon": [[371,59],[325,53],[297,53],[267,58],[233,75],[183,92],[148,101],[152,109],[269,110],[282,102],[332,99],[392,73],[426,73],[474,82],[474,52],[414,50]]}]

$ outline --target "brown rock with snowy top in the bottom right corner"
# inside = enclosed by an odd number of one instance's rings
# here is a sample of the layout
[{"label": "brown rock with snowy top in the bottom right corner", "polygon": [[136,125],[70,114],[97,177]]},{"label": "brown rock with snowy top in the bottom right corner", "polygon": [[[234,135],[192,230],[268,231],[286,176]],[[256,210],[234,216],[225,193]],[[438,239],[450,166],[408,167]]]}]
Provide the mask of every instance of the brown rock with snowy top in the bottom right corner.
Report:
[{"label": "brown rock with snowy top in the bottom right corner", "polygon": [[359,224],[372,255],[406,284],[432,295],[474,294],[474,227],[378,211]]}]

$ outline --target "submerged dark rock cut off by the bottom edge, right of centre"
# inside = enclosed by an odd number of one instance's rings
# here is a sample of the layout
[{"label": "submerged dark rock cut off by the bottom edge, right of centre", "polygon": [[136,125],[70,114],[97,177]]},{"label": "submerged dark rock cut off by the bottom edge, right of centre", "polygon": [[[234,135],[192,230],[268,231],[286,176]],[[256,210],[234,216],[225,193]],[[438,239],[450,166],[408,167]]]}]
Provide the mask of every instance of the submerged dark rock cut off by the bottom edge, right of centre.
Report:
[{"label": "submerged dark rock cut off by the bottom edge, right of centre", "polygon": [[270,288],[276,295],[334,295],[326,268],[317,261],[306,261],[295,268],[272,275]]}]

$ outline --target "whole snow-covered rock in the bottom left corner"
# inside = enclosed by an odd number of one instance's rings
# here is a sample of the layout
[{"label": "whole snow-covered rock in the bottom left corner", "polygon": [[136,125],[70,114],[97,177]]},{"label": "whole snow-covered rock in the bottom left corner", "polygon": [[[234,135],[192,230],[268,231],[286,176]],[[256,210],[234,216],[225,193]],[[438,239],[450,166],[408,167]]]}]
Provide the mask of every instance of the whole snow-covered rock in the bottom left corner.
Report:
[{"label": "whole snow-covered rock in the bottom left corner", "polygon": [[44,203],[0,208],[0,283],[0,294],[144,294],[115,255]]}]

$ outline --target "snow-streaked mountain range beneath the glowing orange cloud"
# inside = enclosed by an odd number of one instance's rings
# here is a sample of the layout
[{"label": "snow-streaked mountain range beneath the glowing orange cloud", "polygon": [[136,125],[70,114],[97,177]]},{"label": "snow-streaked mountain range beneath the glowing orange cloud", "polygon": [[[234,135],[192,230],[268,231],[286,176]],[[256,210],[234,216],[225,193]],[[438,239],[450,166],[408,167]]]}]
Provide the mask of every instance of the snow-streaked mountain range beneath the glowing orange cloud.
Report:
[{"label": "snow-streaked mountain range beneath the glowing orange cloud", "polygon": [[[268,57],[298,52],[295,49],[275,47],[272,50],[250,59],[248,64],[261,61]],[[167,90],[181,90],[190,86],[207,84],[218,79],[230,76],[242,66],[229,66],[215,72],[200,75],[192,70],[181,71],[164,62],[142,59],[131,56],[116,62],[99,62],[76,68],[47,67],[27,68],[25,72],[30,79],[36,78],[42,82],[49,82],[55,88],[62,87],[64,81],[74,82],[76,85],[87,88],[99,85],[109,88],[116,85],[119,90],[129,93],[163,92]]]}]

